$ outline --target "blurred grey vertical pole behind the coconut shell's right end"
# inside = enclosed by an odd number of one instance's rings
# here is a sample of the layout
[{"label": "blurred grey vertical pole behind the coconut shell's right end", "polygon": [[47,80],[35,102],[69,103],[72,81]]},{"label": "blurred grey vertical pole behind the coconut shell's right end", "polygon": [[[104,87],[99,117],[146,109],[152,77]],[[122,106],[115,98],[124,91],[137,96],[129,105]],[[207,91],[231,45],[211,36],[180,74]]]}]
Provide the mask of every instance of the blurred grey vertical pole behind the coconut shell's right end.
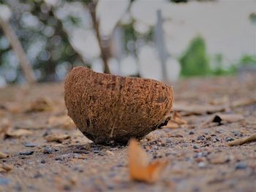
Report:
[{"label": "blurred grey vertical pole behind the coconut shell's right end", "polygon": [[167,82],[167,52],[165,47],[165,37],[162,28],[163,18],[161,10],[157,10],[157,25],[155,26],[154,37],[157,45],[158,55],[162,66],[162,81]]}]

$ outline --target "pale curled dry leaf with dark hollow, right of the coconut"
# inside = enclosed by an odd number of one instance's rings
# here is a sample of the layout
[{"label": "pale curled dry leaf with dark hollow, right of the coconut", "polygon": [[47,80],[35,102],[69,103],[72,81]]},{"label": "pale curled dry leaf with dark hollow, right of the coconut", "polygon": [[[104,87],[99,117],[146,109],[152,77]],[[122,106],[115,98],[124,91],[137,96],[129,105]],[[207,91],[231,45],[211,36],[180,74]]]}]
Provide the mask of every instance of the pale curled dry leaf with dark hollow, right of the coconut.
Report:
[{"label": "pale curled dry leaf with dark hollow, right of the coconut", "polygon": [[240,120],[244,120],[244,116],[240,114],[217,114],[208,118],[200,124],[200,128],[207,126],[210,123],[233,123]]}]

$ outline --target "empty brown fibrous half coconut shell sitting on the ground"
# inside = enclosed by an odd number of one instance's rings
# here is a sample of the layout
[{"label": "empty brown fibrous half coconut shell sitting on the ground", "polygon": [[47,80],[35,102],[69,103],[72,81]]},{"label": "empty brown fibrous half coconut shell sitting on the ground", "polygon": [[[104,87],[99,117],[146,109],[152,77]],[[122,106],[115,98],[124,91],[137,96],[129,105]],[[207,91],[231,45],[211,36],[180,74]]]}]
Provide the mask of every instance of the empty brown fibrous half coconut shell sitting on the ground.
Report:
[{"label": "empty brown fibrous half coconut shell sitting on the ground", "polygon": [[65,82],[68,115],[95,143],[127,143],[170,120],[173,89],[156,80],[120,77],[76,67]]}]

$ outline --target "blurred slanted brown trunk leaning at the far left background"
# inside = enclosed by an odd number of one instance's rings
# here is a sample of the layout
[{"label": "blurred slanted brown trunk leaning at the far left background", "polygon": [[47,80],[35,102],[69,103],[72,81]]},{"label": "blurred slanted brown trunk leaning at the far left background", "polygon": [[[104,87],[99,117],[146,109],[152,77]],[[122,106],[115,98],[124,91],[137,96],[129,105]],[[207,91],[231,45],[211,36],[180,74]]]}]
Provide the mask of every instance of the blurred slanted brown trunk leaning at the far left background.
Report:
[{"label": "blurred slanted brown trunk leaning at the far left background", "polygon": [[3,20],[2,18],[0,18],[0,26],[3,28],[5,36],[9,39],[10,44],[12,45],[12,48],[20,61],[20,67],[24,72],[26,80],[29,83],[35,82],[36,78],[34,77],[33,69],[29,64],[29,59],[26,57],[26,53],[23,50],[23,47],[21,46],[15,32],[12,30],[12,27],[8,21]]}]

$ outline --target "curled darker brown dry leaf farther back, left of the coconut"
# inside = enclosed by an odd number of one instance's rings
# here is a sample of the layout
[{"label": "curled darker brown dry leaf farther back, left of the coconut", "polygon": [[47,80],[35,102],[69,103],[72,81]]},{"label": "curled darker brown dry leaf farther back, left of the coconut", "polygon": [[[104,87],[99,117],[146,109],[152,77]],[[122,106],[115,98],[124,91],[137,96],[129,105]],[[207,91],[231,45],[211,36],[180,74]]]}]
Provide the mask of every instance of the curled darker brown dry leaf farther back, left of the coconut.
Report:
[{"label": "curled darker brown dry leaf farther back, left of the coconut", "polygon": [[48,98],[39,98],[32,101],[29,108],[25,112],[43,112],[53,110],[53,101]]}]

